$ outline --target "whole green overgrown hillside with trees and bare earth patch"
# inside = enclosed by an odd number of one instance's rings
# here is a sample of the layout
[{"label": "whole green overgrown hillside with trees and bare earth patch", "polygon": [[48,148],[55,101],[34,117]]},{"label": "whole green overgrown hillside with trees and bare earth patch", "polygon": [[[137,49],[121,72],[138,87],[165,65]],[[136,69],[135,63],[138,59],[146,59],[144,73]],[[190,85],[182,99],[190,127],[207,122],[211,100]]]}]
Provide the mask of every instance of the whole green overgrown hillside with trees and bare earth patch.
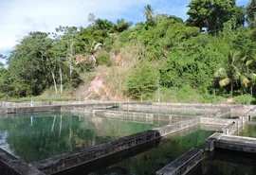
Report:
[{"label": "whole green overgrown hillside with trees and bare earth patch", "polygon": [[146,21],[135,25],[90,13],[87,27],[29,32],[8,66],[0,64],[0,98],[253,102],[256,1],[244,8],[192,0],[188,7],[186,22],[148,5]]}]

